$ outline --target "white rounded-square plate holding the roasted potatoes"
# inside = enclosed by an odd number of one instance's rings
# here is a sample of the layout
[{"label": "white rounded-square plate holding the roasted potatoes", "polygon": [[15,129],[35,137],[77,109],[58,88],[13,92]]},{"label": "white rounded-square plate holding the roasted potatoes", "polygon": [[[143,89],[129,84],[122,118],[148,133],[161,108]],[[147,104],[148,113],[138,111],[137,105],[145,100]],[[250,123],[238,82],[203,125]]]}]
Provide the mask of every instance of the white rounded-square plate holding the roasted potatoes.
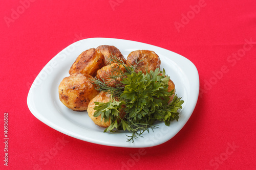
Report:
[{"label": "white rounded-square plate holding the roasted potatoes", "polygon": [[[151,50],[159,55],[161,68],[170,76],[176,87],[178,97],[184,103],[180,110],[179,121],[172,122],[169,127],[164,123],[159,128],[143,133],[143,137],[127,142],[127,132],[103,133],[104,128],[96,126],[88,113],[75,112],[64,106],[58,98],[58,85],[64,77],[69,76],[69,69],[79,54],[99,45],[114,45],[123,56],[135,50]],[[199,94],[199,76],[195,65],[179,54],[163,48],[141,42],[113,39],[89,38],[77,41],[57,54],[40,71],[28,93],[28,107],[32,114],[51,128],[74,138],[110,145],[114,147],[143,148],[153,147],[174,137],[186,124],[193,113]]]}]

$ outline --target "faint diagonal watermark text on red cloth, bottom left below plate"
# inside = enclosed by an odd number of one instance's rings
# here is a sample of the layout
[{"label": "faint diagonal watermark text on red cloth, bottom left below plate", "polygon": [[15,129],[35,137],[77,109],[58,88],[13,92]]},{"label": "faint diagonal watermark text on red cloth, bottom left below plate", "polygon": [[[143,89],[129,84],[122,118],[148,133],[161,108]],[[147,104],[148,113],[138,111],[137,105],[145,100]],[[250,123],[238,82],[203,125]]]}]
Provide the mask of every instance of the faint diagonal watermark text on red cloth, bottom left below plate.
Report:
[{"label": "faint diagonal watermark text on red cloth, bottom left below plate", "polygon": [[50,162],[50,160],[53,159],[54,156],[56,156],[58,152],[62,150],[69,142],[69,140],[66,140],[64,137],[62,137],[62,139],[57,138],[57,140],[58,141],[51,149],[45,151],[39,156],[38,160],[40,161],[40,163],[36,163],[33,165],[34,170],[41,170],[42,168],[40,167],[40,164],[47,165]]}]

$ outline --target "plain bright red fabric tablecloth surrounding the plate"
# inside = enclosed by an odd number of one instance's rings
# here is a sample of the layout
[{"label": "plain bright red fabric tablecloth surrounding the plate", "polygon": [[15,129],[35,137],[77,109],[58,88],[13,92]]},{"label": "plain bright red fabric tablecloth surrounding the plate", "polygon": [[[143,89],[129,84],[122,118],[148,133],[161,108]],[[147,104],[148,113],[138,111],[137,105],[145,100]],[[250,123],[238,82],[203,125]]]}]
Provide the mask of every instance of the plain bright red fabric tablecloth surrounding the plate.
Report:
[{"label": "plain bright red fabric tablecloth surrounding the plate", "polygon": [[[255,9],[254,0],[3,1],[0,141],[8,112],[8,168],[254,169]],[[106,147],[57,132],[32,115],[27,94],[39,71],[69,44],[92,37],[153,44],[196,65],[198,103],[174,138],[153,148]]]}]

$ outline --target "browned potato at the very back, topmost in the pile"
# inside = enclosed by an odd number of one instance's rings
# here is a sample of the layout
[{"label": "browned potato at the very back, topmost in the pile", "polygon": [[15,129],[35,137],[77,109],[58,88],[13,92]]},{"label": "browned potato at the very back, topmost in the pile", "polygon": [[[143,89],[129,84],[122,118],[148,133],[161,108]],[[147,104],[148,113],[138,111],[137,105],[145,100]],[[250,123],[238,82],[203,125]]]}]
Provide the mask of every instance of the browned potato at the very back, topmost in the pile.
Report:
[{"label": "browned potato at the very back, topmost in the pile", "polygon": [[118,48],[113,45],[100,45],[96,48],[96,50],[104,55],[105,65],[114,63],[113,61],[109,60],[110,58],[113,58],[113,56],[116,56],[118,60],[122,60],[124,63],[126,62],[126,59],[123,57]]}]

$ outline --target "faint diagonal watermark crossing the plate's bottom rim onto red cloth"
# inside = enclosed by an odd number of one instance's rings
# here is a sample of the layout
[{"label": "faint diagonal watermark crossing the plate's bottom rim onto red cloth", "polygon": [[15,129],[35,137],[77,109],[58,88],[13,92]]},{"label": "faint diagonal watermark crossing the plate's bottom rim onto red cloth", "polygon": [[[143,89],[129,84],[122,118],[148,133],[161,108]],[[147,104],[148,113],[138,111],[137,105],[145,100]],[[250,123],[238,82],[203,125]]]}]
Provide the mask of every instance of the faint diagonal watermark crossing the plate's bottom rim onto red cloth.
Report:
[{"label": "faint diagonal watermark crossing the plate's bottom rim onto red cloth", "polygon": [[[162,137],[164,137],[165,135],[168,134],[169,131],[171,131],[172,128],[170,128],[169,126],[162,126],[160,128],[160,131],[154,131],[154,135],[150,135],[148,138],[146,138],[146,140],[144,141],[144,143],[146,145],[150,145],[153,147],[153,145],[155,145],[155,143],[159,142],[159,140],[162,139]],[[147,148],[147,149],[151,149]],[[121,170],[130,170],[130,168],[134,167],[136,165],[136,163],[138,163],[141,159],[142,156],[146,155],[147,151],[145,148],[139,148],[137,153],[130,153],[130,159],[128,159],[127,161],[122,161],[121,164]]]}]

